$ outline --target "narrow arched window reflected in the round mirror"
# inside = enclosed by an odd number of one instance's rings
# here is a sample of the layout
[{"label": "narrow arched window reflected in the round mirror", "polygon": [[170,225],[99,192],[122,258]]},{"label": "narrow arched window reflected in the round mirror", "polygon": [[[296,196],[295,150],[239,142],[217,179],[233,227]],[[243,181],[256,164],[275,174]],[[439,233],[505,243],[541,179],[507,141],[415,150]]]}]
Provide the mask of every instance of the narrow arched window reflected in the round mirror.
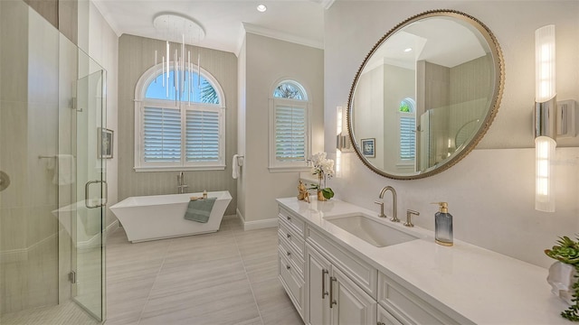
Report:
[{"label": "narrow arched window reflected in the round mirror", "polygon": [[404,98],[398,107],[400,125],[400,160],[413,161],[416,156],[416,102],[413,98]]}]

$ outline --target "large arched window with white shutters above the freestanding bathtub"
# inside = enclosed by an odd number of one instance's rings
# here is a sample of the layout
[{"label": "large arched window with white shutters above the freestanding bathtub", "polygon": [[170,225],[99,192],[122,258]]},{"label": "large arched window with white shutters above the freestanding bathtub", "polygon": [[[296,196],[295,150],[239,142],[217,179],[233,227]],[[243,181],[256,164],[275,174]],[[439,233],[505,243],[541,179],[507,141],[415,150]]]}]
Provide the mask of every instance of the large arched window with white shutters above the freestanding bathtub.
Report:
[{"label": "large arched window with white shutters above the freestanding bathtub", "polygon": [[171,67],[167,76],[161,66],[156,66],[138,80],[135,90],[138,172],[225,168],[223,90],[208,72],[197,71],[181,73]]}]

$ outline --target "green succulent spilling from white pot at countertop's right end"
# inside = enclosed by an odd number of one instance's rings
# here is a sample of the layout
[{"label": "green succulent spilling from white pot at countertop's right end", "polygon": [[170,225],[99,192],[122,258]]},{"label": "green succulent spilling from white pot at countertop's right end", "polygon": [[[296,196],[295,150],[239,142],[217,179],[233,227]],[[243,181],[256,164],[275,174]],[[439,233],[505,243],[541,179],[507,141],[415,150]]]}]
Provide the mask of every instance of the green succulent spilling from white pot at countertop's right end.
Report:
[{"label": "green succulent spilling from white pot at countertop's right end", "polygon": [[[575,271],[573,274],[575,280],[570,288],[572,292],[570,299],[571,306],[569,306],[566,311],[561,312],[561,316],[572,321],[579,321],[579,280],[577,280],[579,279],[579,275],[577,275],[579,274],[579,238],[577,238],[577,240],[578,241],[574,241],[566,236],[559,237],[556,246],[545,250],[547,256],[558,261],[555,262],[555,264],[563,263],[569,265],[573,267]],[[555,265],[551,266],[551,269],[549,269],[549,278],[552,277],[551,270],[554,269],[554,266]],[[549,278],[547,278],[547,281]],[[549,281],[549,283],[551,282],[552,281]],[[554,283],[551,283],[551,285],[554,285]]]}]

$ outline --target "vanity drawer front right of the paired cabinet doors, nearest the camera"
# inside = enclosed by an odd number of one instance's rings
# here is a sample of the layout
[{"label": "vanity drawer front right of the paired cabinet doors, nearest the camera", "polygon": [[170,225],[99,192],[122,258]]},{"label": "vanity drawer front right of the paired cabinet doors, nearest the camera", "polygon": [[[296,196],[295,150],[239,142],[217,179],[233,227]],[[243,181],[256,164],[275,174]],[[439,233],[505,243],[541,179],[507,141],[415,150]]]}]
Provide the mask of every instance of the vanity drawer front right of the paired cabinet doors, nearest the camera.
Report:
[{"label": "vanity drawer front right of the paired cabinet doors, nearest the camera", "polygon": [[378,303],[404,324],[471,324],[453,320],[388,276],[378,274]]}]

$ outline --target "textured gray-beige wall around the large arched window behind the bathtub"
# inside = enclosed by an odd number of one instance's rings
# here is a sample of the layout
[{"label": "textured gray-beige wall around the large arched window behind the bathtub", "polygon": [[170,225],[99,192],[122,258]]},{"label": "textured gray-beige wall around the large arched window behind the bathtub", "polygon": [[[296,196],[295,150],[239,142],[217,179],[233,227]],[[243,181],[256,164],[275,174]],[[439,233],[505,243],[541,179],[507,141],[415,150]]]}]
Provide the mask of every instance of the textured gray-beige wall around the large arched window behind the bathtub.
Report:
[{"label": "textured gray-beige wall around the large arched window behind the bathtub", "polygon": [[[119,200],[131,196],[176,193],[177,172],[135,172],[135,87],[142,74],[151,68],[155,50],[165,50],[164,41],[133,35],[119,38]],[[224,171],[185,172],[190,192],[229,190],[232,202],[225,214],[235,214],[237,185],[232,178],[232,158],[237,150],[237,58],[233,53],[187,46],[191,56],[201,53],[201,67],[209,71],[225,93],[225,163]]]}]

